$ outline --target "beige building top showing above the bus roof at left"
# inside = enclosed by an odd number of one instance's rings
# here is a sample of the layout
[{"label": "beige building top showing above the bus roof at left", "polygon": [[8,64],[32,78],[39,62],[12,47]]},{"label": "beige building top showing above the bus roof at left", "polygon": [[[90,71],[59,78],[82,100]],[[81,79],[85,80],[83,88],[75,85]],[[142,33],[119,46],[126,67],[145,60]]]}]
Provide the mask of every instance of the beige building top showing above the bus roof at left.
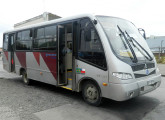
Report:
[{"label": "beige building top showing above the bus roof at left", "polygon": [[43,14],[41,14],[39,16],[36,16],[31,19],[25,20],[23,22],[14,24],[14,28],[20,28],[23,26],[32,25],[32,24],[36,24],[36,23],[40,23],[40,22],[44,22],[44,21],[50,21],[50,20],[54,20],[54,19],[58,19],[58,18],[61,18],[61,17],[58,15],[49,13],[49,12],[44,12]]}]

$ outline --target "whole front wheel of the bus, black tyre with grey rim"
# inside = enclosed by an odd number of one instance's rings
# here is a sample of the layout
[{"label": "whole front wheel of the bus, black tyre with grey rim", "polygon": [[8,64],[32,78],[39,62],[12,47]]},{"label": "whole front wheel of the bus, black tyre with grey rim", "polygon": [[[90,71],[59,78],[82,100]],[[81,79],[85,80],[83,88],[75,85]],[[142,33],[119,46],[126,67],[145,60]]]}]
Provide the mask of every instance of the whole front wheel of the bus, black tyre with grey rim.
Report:
[{"label": "whole front wheel of the bus, black tyre with grey rim", "polygon": [[92,81],[87,81],[83,84],[82,95],[84,100],[90,105],[99,106],[101,104],[100,88]]}]

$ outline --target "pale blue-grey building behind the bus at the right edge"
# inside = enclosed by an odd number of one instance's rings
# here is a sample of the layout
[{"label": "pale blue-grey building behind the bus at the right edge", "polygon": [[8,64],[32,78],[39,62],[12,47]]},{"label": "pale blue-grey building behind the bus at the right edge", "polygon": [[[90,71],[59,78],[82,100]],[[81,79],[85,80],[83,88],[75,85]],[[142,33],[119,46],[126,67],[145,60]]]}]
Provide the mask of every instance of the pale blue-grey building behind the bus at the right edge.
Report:
[{"label": "pale blue-grey building behind the bus at the right edge", "polygon": [[165,53],[165,36],[152,36],[146,41],[153,53]]}]

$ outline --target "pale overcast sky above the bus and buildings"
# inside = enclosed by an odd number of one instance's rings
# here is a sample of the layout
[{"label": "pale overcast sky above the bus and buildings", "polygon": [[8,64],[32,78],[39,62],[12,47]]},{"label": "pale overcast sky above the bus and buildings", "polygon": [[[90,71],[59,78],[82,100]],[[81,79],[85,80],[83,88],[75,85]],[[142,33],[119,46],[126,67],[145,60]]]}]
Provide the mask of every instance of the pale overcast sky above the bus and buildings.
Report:
[{"label": "pale overcast sky above the bus and buildings", "polygon": [[164,0],[0,0],[0,47],[2,34],[15,23],[43,12],[61,17],[91,13],[127,19],[146,35],[165,36]]}]

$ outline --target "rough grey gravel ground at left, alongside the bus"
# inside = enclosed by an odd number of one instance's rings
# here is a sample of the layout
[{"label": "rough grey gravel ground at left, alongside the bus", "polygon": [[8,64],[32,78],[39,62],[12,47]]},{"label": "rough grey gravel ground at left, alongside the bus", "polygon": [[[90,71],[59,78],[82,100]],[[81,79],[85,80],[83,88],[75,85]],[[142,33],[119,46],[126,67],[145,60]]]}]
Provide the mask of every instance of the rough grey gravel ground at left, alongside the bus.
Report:
[{"label": "rough grey gravel ground at left, alongside the bus", "polygon": [[55,86],[33,82],[23,84],[21,78],[0,79],[0,120],[39,120],[33,113],[64,104],[81,96]]}]

